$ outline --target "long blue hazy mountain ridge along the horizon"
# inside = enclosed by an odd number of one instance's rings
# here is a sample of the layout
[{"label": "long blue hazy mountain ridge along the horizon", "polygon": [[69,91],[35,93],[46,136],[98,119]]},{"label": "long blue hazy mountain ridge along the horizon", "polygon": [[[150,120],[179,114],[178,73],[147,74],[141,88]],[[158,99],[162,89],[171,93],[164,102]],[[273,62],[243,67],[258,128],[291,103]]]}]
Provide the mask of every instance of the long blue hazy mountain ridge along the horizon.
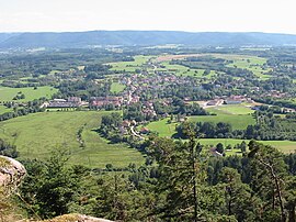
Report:
[{"label": "long blue hazy mountain ridge along the horizon", "polygon": [[92,45],[244,46],[296,45],[296,35],[270,33],[174,32],[174,31],[91,31],[62,33],[0,33],[0,48],[86,47]]}]

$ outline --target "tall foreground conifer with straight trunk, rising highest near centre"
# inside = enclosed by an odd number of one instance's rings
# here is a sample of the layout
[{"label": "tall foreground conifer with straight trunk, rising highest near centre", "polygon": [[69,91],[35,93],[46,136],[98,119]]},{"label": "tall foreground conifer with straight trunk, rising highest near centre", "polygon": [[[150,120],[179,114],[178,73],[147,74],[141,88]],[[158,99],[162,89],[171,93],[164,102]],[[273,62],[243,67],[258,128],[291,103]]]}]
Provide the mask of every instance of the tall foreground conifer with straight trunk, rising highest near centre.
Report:
[{"label": "tall foreground conifer with straight trunk, rising highest near centre", "polygon": [[184,144],[155,138],[148,149],[159,165],[156,192],[164,196],[164,200],[155,213],[163,220],[200,220],[198,197],[206,184],[205,163],[200,158],[202,146],[194,140],[194,132],[189,131],[187,136],[190,142]]}]

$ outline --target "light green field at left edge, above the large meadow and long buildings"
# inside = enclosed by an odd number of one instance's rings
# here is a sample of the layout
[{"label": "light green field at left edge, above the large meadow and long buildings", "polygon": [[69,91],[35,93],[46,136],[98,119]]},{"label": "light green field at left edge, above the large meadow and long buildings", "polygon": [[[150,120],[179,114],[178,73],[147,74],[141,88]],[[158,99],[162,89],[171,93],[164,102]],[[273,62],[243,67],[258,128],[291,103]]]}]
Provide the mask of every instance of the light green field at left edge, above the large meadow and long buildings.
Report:
[{"label": "light green field at left edge, above the large meadow and long buildings", "polygon": [[46,97],[50,99],[50,97],[56,93],[58,90],[53,87],[38,87],[34,89],[30,88],[9,88],[9,87],[0,87],[0,101],[12,101],[13,97],[15,97],[19,92],[24,93],[25,99],[20,99],[18,101],[32,101],[34,99],[39,99],[42,97]]}]

